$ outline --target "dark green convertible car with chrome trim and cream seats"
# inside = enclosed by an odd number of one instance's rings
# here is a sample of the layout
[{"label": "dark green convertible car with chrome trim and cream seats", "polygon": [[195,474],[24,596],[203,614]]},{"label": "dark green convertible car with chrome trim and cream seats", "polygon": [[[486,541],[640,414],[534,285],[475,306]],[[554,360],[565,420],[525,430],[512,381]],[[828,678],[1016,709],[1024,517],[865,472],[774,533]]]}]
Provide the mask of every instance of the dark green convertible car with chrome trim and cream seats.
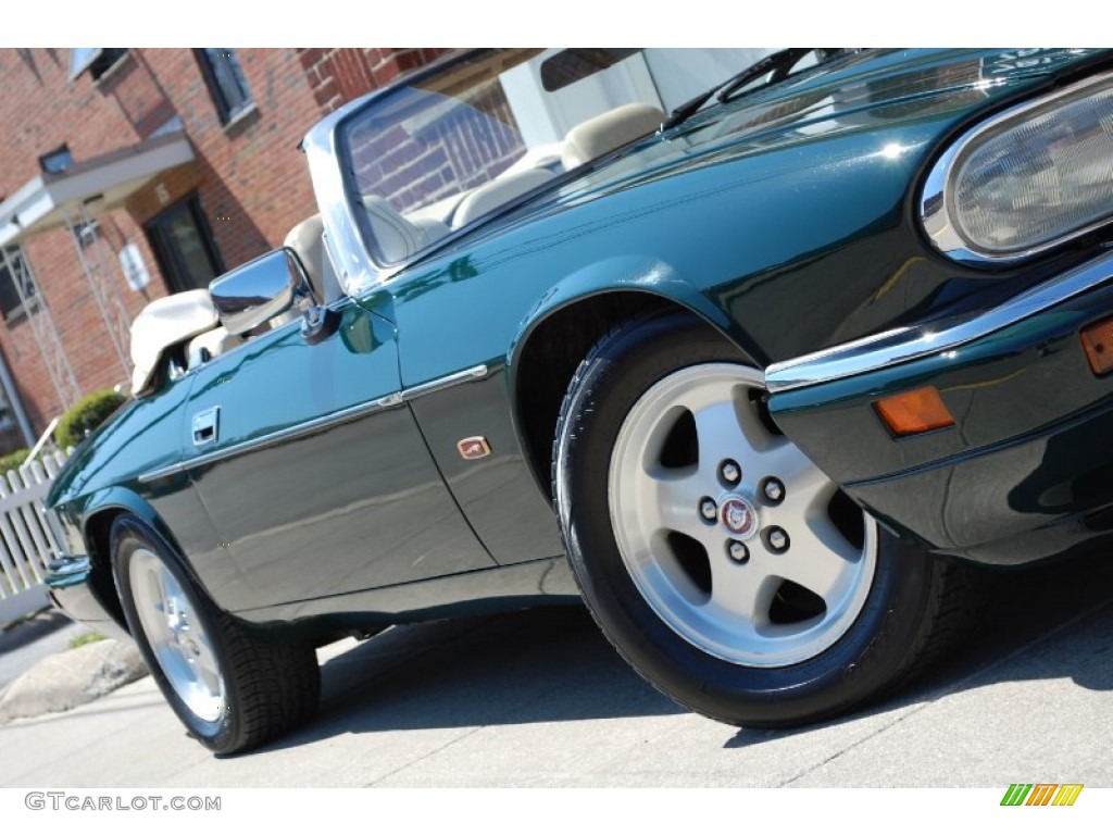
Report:
[{"label": "dark green convertible car with chrome trim and cream seats", "polygon": [[[217,753],[315,647],[584,600],[778,727],[1113,531],[1113,53],[480,50],[306,136],[319,214],[151,303],[48,517]],[[755,62],[756,61],[756,62]]]}]

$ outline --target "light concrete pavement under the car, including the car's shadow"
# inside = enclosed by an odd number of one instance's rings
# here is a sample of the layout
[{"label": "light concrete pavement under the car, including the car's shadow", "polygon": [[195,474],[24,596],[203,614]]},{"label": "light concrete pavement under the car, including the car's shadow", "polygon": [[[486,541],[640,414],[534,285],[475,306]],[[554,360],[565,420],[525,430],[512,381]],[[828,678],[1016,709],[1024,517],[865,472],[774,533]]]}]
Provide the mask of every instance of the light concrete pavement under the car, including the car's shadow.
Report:
[{"label": "light concrete pavement under the car, including the car's shadow", "polygon": [[995,576],[981,631],[871,710],[796,731],[689,714],[579,608],[403,627],[321,651],[316,719],[216,759],[149,678],[0,727],[0,785],[1113,786],[1113,554]]}]

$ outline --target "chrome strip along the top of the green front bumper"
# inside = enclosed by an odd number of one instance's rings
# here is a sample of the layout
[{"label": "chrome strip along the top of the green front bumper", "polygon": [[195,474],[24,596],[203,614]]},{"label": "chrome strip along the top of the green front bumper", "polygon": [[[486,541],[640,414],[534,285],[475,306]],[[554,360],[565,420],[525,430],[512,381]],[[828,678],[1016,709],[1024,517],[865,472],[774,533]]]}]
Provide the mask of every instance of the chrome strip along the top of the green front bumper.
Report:
[{"label": "chrome strip along the top of the green front bumper", "polygon": [[814,354],[774,363],[766,370],[766,386],[770,393],[776,394],[868,374],[930,354],[953,351],[1107,284],[1111,278],[1113,254],[1103,255],[974,316],[935,325],[898,327]]}]

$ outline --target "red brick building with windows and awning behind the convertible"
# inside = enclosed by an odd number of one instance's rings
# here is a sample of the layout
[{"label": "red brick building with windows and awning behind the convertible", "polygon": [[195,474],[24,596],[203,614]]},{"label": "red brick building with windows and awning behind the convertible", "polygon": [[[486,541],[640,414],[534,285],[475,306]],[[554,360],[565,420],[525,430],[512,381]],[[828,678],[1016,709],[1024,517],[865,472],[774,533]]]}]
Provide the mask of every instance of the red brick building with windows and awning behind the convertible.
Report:
[{"label": "red brick building with windows and awning behind the convertible", "polygon": [[0,50],[0,453],[128,379],[148,301],[279,246],[305,131],[442,51]]}]

